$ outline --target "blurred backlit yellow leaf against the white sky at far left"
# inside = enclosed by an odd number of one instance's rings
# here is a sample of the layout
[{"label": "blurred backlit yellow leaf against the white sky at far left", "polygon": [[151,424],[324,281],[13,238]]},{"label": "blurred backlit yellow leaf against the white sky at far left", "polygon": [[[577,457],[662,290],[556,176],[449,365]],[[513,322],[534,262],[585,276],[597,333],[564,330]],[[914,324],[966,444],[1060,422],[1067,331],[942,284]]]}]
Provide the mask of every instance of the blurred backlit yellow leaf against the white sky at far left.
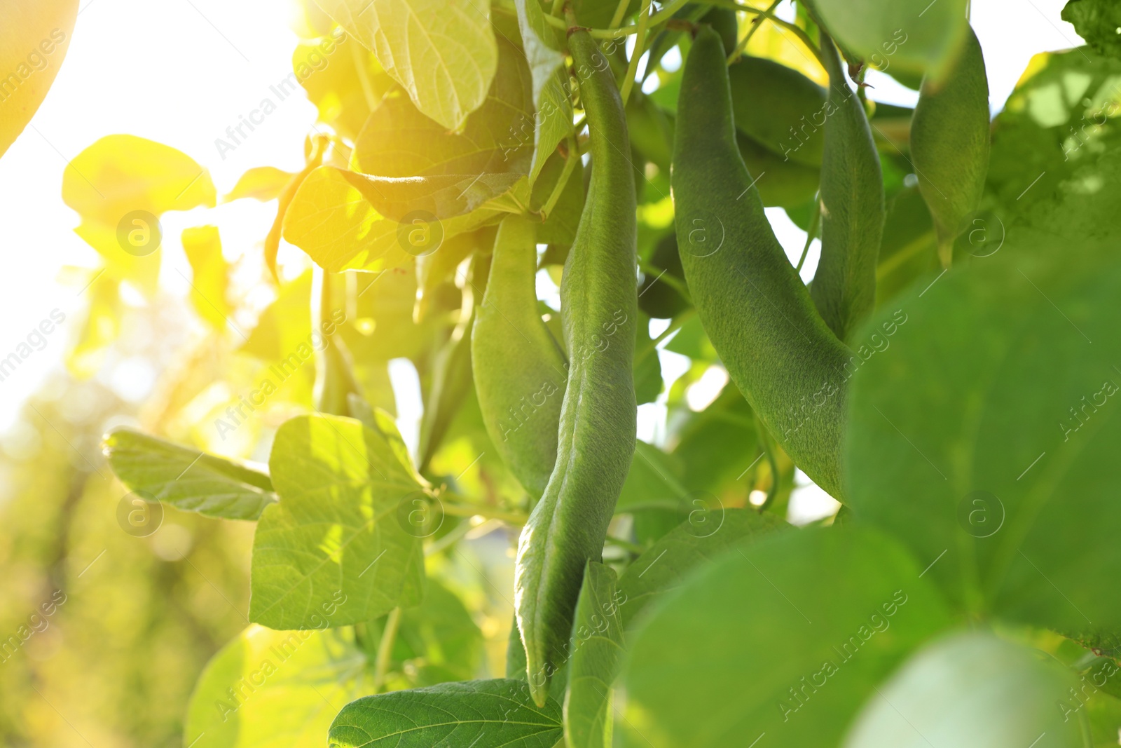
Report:
[{"label": "blurred backlit yellow leaf against the white sky at far left", "polygon": [[186,154],[110,135],[63,172],[63,201],[82,216],[74,231],[101,253],[106,273],[151,294],[159,275],[159,216],[213,207],[215,194],[210,173]]}]

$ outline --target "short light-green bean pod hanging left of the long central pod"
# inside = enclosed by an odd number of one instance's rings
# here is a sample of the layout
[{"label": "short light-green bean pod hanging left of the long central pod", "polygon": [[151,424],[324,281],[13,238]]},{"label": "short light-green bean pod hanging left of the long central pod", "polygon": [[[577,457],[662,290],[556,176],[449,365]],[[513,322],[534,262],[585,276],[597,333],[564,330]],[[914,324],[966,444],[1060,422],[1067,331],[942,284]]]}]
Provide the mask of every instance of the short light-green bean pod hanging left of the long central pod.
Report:
[{"label": "short light-green bean pod hanging left of the long central pod", "polygon": [[532,222],[499,225],[490,280],[471,331],[471,362],[483,424],[503,462],[536,499],[557,458],[568,362],[537,308]]}]

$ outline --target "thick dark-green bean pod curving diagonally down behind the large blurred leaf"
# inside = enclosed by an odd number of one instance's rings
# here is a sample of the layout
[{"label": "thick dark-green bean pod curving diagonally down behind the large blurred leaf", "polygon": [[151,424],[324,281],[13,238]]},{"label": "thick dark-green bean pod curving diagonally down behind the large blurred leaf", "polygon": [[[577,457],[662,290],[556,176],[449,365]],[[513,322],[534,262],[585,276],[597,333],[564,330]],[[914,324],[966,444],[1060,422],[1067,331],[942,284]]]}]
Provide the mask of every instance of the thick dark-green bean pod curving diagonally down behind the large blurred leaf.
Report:
[{"label": "thick dark-green bean pod curving diagonally down behind the large blurred leaf", "polygon": [[840,498],[849,351],[767,221],[735,144],[724,49],[707,28],[685,64],[676,136],[677,244],[701,322],[782,449]]}]

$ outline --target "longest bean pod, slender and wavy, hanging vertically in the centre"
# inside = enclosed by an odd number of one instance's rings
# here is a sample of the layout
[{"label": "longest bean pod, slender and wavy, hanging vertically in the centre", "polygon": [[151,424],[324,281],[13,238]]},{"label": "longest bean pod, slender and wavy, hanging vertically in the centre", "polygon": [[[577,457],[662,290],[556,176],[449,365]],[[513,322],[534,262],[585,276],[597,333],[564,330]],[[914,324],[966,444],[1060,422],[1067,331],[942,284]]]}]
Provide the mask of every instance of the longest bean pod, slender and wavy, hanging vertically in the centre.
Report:
[{"label": "longest bean pod, slender and wavy, hanging vertically in the centre", "polygon": [[[720,40],[717,38],[717,45]],[[586,30],[569,30],[592,177],[560,281],[568,385],[557,461],[518,542],[515,609],[534,700],[566,662],[584,566],[599,561],[634,451],[634,176],[622,101]],[[723,49],[723,47],[721,47]]]}]

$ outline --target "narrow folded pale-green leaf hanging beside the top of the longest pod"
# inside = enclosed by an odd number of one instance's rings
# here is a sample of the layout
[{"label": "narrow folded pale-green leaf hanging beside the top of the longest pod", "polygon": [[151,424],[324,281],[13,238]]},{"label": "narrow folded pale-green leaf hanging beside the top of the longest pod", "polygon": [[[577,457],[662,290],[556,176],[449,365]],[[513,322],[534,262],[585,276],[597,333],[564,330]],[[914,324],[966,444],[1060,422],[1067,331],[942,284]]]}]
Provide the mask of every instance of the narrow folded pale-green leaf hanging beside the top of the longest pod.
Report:
[{"label": "narrow folded pale-green leaf hanging beside the top of the longest pod", "polygon": [[[536,182],[557,145],[572,132],[572,100],[564,68],[564,44],[558,30],[545,20],[538,0],[515,0],[521,46],[534,82],[534,165],[529,181]],[[522,132],[526,137],[528,133]]]}]

